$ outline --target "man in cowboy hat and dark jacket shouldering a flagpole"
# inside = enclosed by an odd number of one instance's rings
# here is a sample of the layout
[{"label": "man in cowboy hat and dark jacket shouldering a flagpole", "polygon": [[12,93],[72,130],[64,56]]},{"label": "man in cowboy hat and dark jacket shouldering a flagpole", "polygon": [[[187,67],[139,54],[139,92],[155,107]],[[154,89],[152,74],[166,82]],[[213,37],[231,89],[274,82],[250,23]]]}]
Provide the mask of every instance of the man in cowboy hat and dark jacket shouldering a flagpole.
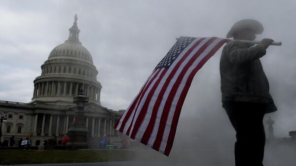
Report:
[{"label": "man in cowboy hat and dark jacket shouldering a flagpole", "polygon": [[[251,19],[233,25],[227,38],[255,40],[263,32],[262,25]],[[235,165],[263,166],[265,113],[277,110],[269,94],[268,80],[259,58],[266,54],[272,39],[252,44],[237,40],[228,42],[220,60],[222,107],[236,131]]]}]

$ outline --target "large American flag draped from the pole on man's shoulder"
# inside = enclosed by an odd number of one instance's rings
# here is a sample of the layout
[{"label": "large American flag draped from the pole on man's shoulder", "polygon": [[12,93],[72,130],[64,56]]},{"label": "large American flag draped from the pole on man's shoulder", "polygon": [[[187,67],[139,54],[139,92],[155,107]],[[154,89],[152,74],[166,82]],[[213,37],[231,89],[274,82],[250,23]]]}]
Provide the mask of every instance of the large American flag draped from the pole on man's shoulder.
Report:
[{"label": "large American flag draped from the pole on man's shoulder", "polygon": [[114,129],[169,156],[192,79],[226,41],[217,37],[178,38]]}]

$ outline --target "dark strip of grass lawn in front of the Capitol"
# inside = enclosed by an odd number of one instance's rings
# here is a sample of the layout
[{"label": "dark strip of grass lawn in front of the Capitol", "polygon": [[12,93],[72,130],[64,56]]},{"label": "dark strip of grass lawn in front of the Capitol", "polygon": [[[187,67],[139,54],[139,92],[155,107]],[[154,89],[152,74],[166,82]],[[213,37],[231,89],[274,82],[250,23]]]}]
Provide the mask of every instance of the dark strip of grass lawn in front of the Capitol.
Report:
[{"label": "dark strip of grass lawn in front of the Capitol", "polygon": [[133,150],[0,150],[0,165],[130,161]]}]

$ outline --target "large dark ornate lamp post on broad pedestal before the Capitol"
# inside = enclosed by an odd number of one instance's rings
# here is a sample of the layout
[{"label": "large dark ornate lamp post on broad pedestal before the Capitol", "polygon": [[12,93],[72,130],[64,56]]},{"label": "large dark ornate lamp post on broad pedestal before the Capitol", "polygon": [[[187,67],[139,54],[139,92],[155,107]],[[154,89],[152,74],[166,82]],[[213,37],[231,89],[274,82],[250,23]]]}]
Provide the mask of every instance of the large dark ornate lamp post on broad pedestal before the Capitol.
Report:
[{"label": "large dark ornate lamp post on broad pedestal before the Capitol", "polygon": [[74,98],[76,103],[75,118],[68,130],[69,142],[67,143],[68,149],[85,149],[87,148],[87,135],[86,118],[84,116],[84,105],[88,102],[83,94],[83,90],[79,90],[78,96]]}]

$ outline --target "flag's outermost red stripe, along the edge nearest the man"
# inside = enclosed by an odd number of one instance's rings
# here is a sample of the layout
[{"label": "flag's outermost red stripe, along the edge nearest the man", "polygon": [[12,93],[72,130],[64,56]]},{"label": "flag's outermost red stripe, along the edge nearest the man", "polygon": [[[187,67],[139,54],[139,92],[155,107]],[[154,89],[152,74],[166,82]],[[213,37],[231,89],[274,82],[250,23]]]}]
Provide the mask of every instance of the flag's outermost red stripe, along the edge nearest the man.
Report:
[{"label": "flag's outermost red stripe, along the edge nearest the man", "polygon": [[185,97],[187,95],[188,89],[191,85],[191,82],[193,80],[194,75],[196,74],[196,72],[219,50],[219,48],[221,48],[221,46],[226,42],[226,39],[221,40],[206,56],[205,58],[203,58],[201,60],[201,62],[192,70],[192,72],[190,73],[190,75],[188,76],[188,79],[186,81],[185,87],[180,95],[179,101],[177,103],[176,106],[176,111],[172,120],[172,126],[171,126],[171,130],[169,133],[169,137],[167,140],[167,146],[165,148],[164,151],[164,155],[168,156],[171,152],[172,146],[173,146],[173,142],[174,142],[174,138],[175,138],[175,134],[176,134],[176,130],[177,130],[177,124],[179,121],[179,117],[180,117],[180,113],[181,113],[181,109],[185,100]]}]

